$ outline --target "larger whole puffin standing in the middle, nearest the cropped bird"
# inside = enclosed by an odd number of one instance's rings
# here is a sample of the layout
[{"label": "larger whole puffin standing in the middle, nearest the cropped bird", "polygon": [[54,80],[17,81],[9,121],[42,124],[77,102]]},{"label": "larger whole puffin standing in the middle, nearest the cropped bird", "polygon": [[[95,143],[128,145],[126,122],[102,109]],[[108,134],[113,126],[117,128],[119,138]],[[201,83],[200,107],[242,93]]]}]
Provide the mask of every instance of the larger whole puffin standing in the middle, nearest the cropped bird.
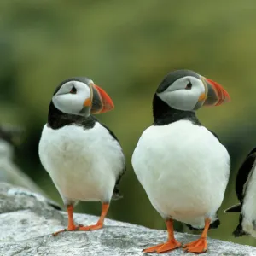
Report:
[{"label": "larger whole puffin standing in the middle, nearest the cropped bird", "polygon": [[184,251],[207,251],[207,230],[220,224],[217,212],[230,176],[230,155],[195,111],[224,102],[230,96],[220,84],[191,70],[168,73],[158,86],[154,122],[139,138],[131,163],[149,201],[165,219],[168,240],[143,252],[165,253],[182,246],[174,237],[173,220],[203,230]]}]

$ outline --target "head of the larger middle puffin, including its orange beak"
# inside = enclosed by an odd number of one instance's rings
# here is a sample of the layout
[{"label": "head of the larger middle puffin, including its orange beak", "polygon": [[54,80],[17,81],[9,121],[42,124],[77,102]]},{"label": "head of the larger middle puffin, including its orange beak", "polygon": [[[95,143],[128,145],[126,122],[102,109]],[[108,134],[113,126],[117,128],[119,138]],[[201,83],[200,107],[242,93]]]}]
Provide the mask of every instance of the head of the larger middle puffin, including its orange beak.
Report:
[{"label": "head of the larger middle puffin, including its orange beak", "polygon": [[168,73],[155,94],[169,107],[182,111],[230,102],[229,94],[220,84],[190,70]]}]

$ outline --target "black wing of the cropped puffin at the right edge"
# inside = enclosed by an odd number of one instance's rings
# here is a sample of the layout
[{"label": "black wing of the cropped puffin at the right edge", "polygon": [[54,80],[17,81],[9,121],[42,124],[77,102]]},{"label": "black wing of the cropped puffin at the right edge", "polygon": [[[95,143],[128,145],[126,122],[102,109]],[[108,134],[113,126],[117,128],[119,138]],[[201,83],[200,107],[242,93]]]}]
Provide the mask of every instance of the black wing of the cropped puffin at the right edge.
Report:
[{"label": "black wing of the cropped puffin at the right edge", "polygon": [[247,189],[248,180],[253,174],[255,159],[256,148],[253,148],[253,150],[247,154],[246,160],[244,160],[236,175],[236,196],[241,203]]}]

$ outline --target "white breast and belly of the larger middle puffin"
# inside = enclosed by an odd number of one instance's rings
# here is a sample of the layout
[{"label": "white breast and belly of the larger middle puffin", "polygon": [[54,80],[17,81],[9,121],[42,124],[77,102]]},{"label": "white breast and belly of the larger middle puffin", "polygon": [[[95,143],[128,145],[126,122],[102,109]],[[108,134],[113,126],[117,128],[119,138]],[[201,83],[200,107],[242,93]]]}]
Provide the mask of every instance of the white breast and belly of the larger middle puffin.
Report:
[{"label": "white breast and belly of the larger middle puffin", "polygon": [[230,156],[205,127],[181,120],[144,131],[132,166],[163,218],[201,226],[223,201]]}]

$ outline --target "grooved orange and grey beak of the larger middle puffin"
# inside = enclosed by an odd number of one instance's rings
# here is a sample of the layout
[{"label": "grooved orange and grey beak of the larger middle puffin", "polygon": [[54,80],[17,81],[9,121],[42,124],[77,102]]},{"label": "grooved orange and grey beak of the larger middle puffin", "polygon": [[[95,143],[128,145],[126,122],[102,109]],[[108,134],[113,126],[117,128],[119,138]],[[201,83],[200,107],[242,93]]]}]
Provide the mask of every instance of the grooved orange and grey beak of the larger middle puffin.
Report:
[{"label": "grooved orange and grey beak of the larger middle puffin", "polygon": [[220,84],[204,77],[201,77],[201,80],[205,85],[205,93],[201,94],[198,102],[201,102],[202,106],[219,106],[230,102],[228,92]]}]

